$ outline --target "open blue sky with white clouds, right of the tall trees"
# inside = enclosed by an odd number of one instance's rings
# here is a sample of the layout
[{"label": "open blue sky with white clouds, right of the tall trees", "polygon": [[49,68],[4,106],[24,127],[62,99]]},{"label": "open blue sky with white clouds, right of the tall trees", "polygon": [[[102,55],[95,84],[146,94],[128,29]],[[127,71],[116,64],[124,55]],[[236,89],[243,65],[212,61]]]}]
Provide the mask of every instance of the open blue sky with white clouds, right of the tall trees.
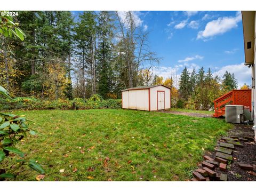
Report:
[{"label": "open blue sky with white clouds, right of the tall trees", "polygon": [[163,59],[154,70],[166,77],[211,68],[222,76],[234,73],[238,85],[251,85],[251,70],[243,65],[243,26],[240,11],[141,11],[138,25],[149,31],[152,51]]}]

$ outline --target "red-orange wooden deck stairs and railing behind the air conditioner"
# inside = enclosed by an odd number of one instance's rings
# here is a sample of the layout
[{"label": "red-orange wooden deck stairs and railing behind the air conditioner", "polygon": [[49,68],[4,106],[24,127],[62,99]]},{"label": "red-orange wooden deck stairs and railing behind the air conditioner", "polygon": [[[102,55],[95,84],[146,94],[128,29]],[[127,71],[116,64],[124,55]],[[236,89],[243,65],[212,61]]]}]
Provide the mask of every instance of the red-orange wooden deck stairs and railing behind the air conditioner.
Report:
[{"label": "red-orange wooden deck stairs and railing behind the air conditioner", "polygon": [[250,107],[252,110],[252,98],[251,90],[232,90],[226,94],[223,94],[214,102],[214,114],[213,117],[220,117],[225,115],[226,105],[243,105],[245,107]]}]

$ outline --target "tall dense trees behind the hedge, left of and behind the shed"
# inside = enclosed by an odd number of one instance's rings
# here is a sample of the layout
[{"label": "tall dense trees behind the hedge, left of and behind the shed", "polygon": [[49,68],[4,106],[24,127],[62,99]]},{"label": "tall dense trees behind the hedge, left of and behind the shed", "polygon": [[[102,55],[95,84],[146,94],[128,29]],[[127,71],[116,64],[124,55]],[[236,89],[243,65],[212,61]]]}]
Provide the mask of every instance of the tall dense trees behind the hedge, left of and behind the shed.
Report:
[{"label": "tall dense trees behind the hedge, left of and behind the shed", "polygon": [[1,36],[0,84],[12,95],[120,97],[161,58],[132,11],[19,11],[25,40]]}]

